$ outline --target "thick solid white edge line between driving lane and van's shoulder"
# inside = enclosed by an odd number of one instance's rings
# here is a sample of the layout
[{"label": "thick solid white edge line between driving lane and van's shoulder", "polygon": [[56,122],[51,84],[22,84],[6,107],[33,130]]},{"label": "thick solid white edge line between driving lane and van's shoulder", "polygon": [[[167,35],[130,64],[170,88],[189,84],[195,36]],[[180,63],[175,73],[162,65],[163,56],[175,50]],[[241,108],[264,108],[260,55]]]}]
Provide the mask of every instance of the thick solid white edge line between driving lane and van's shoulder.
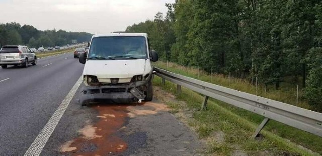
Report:
[{"label": "thick solid white edge line between driving lane and van's shoulder", "polygon": [[52,132],[55,130],[59,120],[67,109],[71,99],[74,97],[79,86],[82,84],[82,77],[80,77],[72,89],[69,91],[65,99],[61,102],[55,113],[51,116],[45,127],[40,131],[40,134],[36,137],[34,142],[31,144],[29,149],[24,154],[25,156],[37,156],[40,155],[41,151],[44,149],[49,137]]}]

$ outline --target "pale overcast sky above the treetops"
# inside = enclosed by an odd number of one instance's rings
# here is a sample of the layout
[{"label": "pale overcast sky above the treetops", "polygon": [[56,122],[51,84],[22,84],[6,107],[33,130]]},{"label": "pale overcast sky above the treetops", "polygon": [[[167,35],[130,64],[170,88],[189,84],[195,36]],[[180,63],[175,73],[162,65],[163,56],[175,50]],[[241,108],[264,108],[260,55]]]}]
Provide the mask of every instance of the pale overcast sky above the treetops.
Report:
[{"label": "pale overcast sky above the treetops", "polygon": [[175,0],[0,0],[0,23],[17,22],[39,30],[110,33],[153,20]]}]

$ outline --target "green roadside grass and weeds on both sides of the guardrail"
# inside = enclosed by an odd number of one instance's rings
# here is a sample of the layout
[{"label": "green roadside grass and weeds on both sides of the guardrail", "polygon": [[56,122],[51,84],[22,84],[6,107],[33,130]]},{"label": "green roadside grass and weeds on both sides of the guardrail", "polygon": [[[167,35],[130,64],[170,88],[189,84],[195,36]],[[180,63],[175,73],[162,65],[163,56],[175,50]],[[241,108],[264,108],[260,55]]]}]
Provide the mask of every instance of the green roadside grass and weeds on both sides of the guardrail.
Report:
[{"label": "green roadside grass and weeds on both sides of the guardrail", "polygon": [[[157,62],[157,67],[167,69],[174,73],[198,79],[198,69],[185,68],[174,64],[167,67],[167,63]],[[199,80],[210,82],[210,75],[205,72],[199,72]],[[167,82],[167,81],[166,81]],[[160,79],[156,77],[154,83],[160,85]],[[210,82],[211,83],[211,82]],[[229,79],[222,75],[213,75],[212,83],[229,87]],[[167,82],[163,89],[176,94],[176,85]],[[232,79],[231,88],[243,92],[255,94],[255,86],[244,79]],[[322,154],[322,138],[296,128],[284,125],[276,121],[269,121],[261,134],[264,135],[262,141],[251,139],[256,127],[264,119],[262,116],[249,111],[231,106],[224,102],[210,99],[208,109],[198,111],[201,107],[203,96],[186,88],[182,89],[182,94],[178,95],[178,100],[186,102],[186,105],[180,103],[168,103],[174,109],[173,113],[188,108],[192,112],[194,121],[189,121],[189,125],[195,128],[200,138],[207,138],[218,131],[225,133],[224,144],[216,142],[210,143],[209,150],[223,155],[231,153],[236,148],[241,148],[248,154],[267,155],[263,152],[269,152],[269,155],[284,155],[286,152],[290,155],[311,155],[313,153],[302,150],[300,146],[308,148],[316,153]],[[259,96],[271,98],[282,102],[294,102],[292,92],[258,92]],[[283,95],[283,96],[280,96]],[[285,97],[284,97],[285,96]],[[293,103],[294,104],[294,103]],[[307,103],[301,101],[301,107],[309,107]],[[293,143],[291,143],[293,142]],[[297,145],[296,145],[297,144]],[[236,146],[240,145],[240,146]],[[317,154],[318,155],[318,154]]]}]

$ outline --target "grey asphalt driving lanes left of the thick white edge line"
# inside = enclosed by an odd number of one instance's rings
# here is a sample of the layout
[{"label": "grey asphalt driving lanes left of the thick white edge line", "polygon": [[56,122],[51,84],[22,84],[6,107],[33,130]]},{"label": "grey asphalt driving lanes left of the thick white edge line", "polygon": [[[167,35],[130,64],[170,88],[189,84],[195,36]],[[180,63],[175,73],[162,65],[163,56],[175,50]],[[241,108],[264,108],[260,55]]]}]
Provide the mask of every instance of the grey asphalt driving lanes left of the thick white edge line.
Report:
[{"label": "grey asphalt driving lanes left of the thick white edge line", "polygon": [[28,68],[0,69],[0,81],[5,80],[0,82],[0,155],[26,152],[83,67],[68,53],[39,59]]}]

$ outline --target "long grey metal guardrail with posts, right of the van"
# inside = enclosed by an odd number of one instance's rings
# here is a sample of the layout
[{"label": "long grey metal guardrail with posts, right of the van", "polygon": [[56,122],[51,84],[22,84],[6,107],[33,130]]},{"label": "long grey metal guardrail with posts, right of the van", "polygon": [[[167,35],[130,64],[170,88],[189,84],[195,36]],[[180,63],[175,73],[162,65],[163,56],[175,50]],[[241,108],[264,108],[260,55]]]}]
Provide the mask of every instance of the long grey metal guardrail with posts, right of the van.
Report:
[{"label": "long grey metal guardrail with posts, right of the van", "polygon": [[270,119],[322,137],[322,113],[196,80],[160,68],[154,69],[155,74],[162,78],[162,84],[165,84],[165,79],[177,84],[179,93],[183,86],[205,95],[201,109],[206,108],[208,98],[211,97],[264,116],[265,119],[256,129],[253,137],[258,136]]}]

